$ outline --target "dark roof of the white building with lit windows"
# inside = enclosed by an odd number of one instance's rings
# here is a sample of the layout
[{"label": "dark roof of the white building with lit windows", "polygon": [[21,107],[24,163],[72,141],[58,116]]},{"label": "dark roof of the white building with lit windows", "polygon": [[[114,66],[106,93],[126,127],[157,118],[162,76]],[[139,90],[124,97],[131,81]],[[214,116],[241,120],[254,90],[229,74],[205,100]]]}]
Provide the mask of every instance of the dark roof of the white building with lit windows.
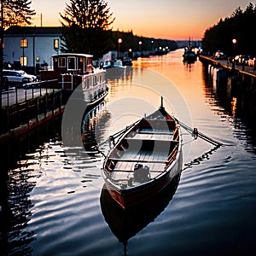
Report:
[{"label": "dark roof of the white building with lit windows", "polygon": [[10,26],[5,36],[20,35],[62,35],[61,26]]}]

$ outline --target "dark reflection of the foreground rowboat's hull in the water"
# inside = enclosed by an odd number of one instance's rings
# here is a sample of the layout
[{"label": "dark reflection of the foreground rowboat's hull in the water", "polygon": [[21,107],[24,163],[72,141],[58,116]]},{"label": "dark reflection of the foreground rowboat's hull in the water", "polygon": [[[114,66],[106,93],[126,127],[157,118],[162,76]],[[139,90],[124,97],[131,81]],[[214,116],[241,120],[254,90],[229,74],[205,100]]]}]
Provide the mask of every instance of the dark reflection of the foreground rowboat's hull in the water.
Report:
[{"label": "dark reflection of the foreground rowboat's hull in the water", "polygon": [[102,214],[113,235],[118,238],[119,242],[124,244],[125,255],[128,240],[136,236],[148,224],[154,222],[154,219],[165,210],[175,194],[179,179],[180,174],[173,178],[166,189],[162,190],[158,195],[125,210],[116,201],[113,201],[104,184],[100,199]]}]

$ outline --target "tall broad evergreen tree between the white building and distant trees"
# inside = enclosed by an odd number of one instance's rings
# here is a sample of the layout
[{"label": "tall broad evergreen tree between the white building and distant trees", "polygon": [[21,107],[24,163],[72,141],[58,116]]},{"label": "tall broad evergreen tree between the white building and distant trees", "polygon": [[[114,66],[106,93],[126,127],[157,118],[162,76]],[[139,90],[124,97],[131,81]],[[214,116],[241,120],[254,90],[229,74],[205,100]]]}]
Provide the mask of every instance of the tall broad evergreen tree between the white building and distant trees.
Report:
[{"label": "tall broad evergreen tree between the white building and distant trees", "polygon": [[61,50],[102,57],[112,47],[112,15],[103,0],[71,0],[61,15]]}]

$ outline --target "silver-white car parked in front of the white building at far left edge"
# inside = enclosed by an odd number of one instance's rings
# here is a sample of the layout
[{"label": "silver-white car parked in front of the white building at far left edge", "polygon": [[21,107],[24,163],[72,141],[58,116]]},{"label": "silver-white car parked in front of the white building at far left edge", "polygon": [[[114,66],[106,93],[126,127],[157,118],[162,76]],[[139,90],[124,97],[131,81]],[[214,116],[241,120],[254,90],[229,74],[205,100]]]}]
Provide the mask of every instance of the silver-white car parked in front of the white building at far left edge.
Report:
[{"label": "silver-white car parked in front of the white building at far left edge", "polygon": [[3,80],[7,84],[20,84],[32,83],[37,81],[37,77],[26,73],[23,70],[3,69]]}]

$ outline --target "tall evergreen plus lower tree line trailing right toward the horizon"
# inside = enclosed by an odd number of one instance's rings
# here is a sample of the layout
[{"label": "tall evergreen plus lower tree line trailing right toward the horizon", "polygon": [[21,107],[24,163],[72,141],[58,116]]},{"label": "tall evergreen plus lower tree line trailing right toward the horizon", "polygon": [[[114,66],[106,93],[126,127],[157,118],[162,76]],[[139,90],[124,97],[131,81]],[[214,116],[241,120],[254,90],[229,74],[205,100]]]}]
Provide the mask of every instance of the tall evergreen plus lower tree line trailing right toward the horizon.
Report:
[{"label": "tall evergreen plus lower tree line trailing right toward the horizon", "polygon": [[[120,52],[177,49],[175,41],[138,37],[129,32],[113,31],[115,18],[103,0],[71,0],[61,14],[63,42],[62,52],[79,52],[102,57],[109,50]],[[121,43],[118,43],[121,38]]]}]

